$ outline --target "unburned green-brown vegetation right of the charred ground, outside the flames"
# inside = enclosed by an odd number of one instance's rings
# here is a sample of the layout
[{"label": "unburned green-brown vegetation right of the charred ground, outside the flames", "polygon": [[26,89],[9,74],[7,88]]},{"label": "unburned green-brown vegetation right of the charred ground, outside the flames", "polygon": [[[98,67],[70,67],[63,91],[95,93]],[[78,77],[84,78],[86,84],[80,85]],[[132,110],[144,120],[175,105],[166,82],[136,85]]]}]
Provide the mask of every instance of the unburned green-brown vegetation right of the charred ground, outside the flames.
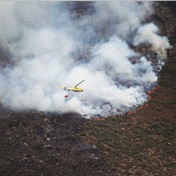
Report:
[{"label": "unburned green-brown vegetation right of the charred ground, outside the flames", "polygon": [[176,59],[161,71],[149,108],[87,120],[81,137],[94,144],[114,175],[176,175]]}]

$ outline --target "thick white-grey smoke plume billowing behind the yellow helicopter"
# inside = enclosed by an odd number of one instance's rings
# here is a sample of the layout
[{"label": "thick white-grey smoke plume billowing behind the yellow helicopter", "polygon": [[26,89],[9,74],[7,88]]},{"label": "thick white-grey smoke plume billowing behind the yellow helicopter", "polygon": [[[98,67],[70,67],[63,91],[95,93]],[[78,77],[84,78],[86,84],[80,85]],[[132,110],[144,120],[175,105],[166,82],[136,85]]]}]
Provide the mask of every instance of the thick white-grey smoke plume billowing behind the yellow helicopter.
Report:
[{"label": "thick white-grey smoke plume billowing behind the yellow helicopter", "polygon": [[[155,24],[145,24],[152,3],[89,4],[80,15],[71,2],[0,3],[0,42],[10,55],[0,68],[4,106],[107,116],[147,101],[157,72],[152,58],[132,48],[150,44],[162,60],[170,47]],[[82,93],[59,88],[83,79]]]}]

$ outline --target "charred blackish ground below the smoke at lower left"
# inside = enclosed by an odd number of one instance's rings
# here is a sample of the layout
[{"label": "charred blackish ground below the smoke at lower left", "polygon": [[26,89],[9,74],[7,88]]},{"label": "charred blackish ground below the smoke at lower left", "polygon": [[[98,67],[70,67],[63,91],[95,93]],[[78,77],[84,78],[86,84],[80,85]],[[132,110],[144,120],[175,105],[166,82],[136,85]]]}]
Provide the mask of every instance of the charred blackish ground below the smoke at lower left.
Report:
[{"label": "charred blackish ground below the smoke at lower left", "polygon": [[78,132],[77,114],[16,113],[1,119],[1,175],[85,175],[94,173],[98,150]]}]

